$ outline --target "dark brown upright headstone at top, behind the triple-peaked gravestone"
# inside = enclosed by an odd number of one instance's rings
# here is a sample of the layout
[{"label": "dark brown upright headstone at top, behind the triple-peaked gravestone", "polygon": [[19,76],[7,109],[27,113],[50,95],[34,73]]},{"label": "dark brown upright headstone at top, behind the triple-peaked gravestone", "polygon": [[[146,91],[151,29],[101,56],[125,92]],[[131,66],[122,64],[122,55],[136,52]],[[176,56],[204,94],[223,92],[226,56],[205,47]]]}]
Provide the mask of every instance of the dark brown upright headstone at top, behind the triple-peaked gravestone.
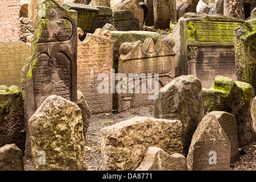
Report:
[{"label": "dark brown upright headstone at top, behind the triple-peaked gravestone", "polygon": [[166,0],[154,0],[154,28],[170,28],[170,2]]}]

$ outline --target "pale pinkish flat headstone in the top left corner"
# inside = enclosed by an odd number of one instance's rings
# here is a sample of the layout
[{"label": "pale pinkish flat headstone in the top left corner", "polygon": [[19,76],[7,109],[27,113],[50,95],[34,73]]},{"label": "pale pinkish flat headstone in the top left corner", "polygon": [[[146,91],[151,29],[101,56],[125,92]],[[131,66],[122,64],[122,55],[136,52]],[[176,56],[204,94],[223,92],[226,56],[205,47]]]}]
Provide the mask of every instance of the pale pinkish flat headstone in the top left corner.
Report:
[{"label": "pale pinkish flat headstone in the top left corner", "polygon": [[0,1],[0,42],[19,41],[20,0]]}]

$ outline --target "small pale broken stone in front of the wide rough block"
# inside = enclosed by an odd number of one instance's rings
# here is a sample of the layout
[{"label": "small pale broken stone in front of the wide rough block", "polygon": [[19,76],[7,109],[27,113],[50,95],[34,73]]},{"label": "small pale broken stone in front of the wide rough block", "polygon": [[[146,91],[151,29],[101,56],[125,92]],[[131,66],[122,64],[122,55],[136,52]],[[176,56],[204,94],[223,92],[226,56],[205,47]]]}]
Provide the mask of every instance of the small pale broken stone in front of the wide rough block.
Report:
[{"label": "small pale broken stone in front of the wide rough block", "polygon": [[158,147],[149,147],[142,163],[135,171],[188,171],[182,154],[169,155]]}]

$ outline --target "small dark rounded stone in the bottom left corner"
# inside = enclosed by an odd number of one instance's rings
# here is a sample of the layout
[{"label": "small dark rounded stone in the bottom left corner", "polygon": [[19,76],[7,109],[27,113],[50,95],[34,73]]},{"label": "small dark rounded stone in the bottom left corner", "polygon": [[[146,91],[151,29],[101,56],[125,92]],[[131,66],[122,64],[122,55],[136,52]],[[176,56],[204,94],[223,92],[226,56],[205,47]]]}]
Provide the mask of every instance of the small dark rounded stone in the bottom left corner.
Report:
[{"label": "small dark rounded stone in the bottom left corner", "polygon": [[0,148],[0,171],[24,171],[22,151],[15,144]]}]

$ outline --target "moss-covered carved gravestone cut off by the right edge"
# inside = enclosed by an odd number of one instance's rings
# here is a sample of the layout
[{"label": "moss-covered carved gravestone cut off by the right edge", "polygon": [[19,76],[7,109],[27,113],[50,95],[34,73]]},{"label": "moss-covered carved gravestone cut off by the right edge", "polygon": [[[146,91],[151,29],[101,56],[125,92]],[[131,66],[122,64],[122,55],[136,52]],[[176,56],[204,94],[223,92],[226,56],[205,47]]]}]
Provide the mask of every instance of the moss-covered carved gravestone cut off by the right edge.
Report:
[{"label": "moss-covered carved gravestone cut off by the right edge", "polygon": [[236,53],[237,79],[253,86],[256,93],[256,18],[236,29],[234,49]]}]

